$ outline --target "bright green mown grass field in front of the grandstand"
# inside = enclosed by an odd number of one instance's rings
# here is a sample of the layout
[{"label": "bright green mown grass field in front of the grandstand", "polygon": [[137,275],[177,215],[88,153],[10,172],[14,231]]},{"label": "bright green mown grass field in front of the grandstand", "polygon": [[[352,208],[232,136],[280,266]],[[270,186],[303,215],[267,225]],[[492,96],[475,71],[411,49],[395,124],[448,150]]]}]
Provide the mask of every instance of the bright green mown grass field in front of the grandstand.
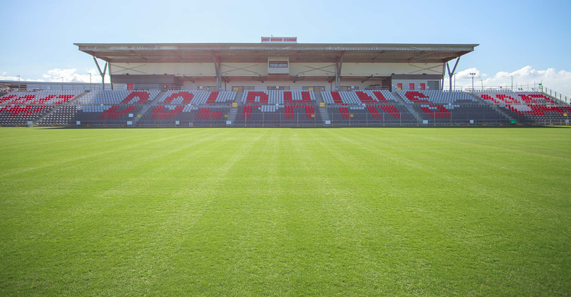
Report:
[{"label": "bright green mown grass field in front of the grandstand", "polygon": [[0,128],[1,296],[569,296],[571,129]]}]

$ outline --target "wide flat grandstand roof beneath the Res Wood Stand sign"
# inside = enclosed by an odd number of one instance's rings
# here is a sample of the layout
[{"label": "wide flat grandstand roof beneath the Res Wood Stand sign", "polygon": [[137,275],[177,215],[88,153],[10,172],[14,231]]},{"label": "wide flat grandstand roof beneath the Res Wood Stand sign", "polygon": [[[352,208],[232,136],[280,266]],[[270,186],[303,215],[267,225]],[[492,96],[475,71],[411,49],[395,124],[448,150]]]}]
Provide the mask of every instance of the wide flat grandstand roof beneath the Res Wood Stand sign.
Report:
[{"label": "wide flat grandstand roof beneath the Res Wood Stand sign", "polygon": [[74,43],[80,51],[112,63],[289,62],[443,63],[468,54],[478,44],[395,43]]}]

